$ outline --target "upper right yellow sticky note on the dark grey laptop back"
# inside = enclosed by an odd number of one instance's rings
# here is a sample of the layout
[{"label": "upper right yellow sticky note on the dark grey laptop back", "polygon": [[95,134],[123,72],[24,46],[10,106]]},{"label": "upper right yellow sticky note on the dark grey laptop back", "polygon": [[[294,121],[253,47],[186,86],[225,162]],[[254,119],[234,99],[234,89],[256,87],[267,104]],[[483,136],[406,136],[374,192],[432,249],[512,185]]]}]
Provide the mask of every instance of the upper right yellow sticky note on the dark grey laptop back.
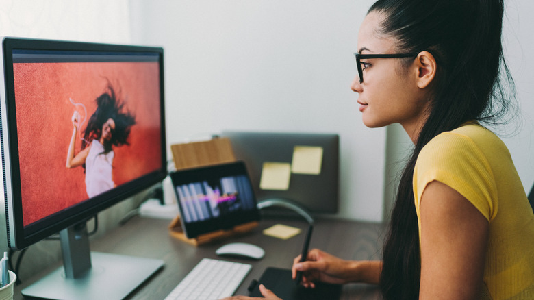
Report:
[{"label": "upper right yellow sticky note on the dark grey laptop back", "polygon": [[322,147],[295,146],[291,171],[295,174],[319,175],[322,166]]}]

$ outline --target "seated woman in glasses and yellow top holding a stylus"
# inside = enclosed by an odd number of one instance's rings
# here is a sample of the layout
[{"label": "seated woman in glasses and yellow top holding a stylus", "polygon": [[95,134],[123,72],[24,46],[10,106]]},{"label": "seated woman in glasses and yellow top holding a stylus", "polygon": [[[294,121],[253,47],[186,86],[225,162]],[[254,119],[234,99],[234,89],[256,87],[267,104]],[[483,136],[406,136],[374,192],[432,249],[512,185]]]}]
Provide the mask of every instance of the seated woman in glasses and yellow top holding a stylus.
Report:
[{"label": "seated woman in glasses and yellow top holding a stylus", "polygon": [[313,249],[292,267],[293,275],[303,271],[305,286],[379,284],[384,299],[534,299],[534,215],[508,150],[481,125],[496,124],[509,107],[502,79],[513,87],[501,45],[503,6],[372,5],[351,88],[364,124],[400,123],[414,152],[383,260],[346,261]]}]

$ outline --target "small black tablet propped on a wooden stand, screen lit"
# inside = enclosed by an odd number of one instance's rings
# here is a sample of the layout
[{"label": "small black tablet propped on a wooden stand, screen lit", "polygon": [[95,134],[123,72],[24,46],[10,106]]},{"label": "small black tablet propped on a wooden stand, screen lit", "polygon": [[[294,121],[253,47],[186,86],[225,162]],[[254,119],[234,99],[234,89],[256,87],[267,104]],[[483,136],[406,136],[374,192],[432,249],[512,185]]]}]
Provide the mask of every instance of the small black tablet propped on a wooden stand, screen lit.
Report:
[{"label": "small black tablet propped on a wooden stand, screen lit", "polygon": [[259,221],[256,198],[243,162],[170,173],[181,225],[188,238]]}]

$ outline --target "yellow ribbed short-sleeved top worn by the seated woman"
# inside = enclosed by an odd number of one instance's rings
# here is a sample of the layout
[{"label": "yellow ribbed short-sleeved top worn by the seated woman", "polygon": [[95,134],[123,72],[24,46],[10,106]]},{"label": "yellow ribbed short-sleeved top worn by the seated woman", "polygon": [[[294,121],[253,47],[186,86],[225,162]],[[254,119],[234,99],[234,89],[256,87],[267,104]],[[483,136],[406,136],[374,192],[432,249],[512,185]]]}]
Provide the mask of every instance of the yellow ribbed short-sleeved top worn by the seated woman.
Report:
[{"label": "yellow ribbed short-sleeved top worn by the seated woman", "polygon": [[457,190],[489,221],[480,299],[534,299],[534,214],[503,141],[470,123],[424,146],[414,171],[419,238],[421,195],[434,180]]}]

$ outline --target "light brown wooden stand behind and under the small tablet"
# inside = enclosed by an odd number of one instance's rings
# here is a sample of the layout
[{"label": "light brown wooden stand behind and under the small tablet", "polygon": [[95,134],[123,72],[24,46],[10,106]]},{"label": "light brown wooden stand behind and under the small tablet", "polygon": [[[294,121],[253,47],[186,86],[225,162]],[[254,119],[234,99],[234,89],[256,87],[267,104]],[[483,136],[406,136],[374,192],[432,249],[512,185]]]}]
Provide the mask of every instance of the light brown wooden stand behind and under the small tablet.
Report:
[{"label": "light brown wooden stand behind and under the small tablet", "polygon": [[[236,156],[233,155],[231,142],[228,138],[214,138],[203,142],[170,145],[170,150],[173,152],[173,159],[177,171],[236,161]],[[177,216],[168,228],[171,236],[188,242],[191,245],[199,246],[214,240],[244,234],[257,225],[258,222],[253,221],[238,225],[230,230],[221,229],[216,232],[196,236],[196,238],[188,238],[181,227],[180,216]]]}]

